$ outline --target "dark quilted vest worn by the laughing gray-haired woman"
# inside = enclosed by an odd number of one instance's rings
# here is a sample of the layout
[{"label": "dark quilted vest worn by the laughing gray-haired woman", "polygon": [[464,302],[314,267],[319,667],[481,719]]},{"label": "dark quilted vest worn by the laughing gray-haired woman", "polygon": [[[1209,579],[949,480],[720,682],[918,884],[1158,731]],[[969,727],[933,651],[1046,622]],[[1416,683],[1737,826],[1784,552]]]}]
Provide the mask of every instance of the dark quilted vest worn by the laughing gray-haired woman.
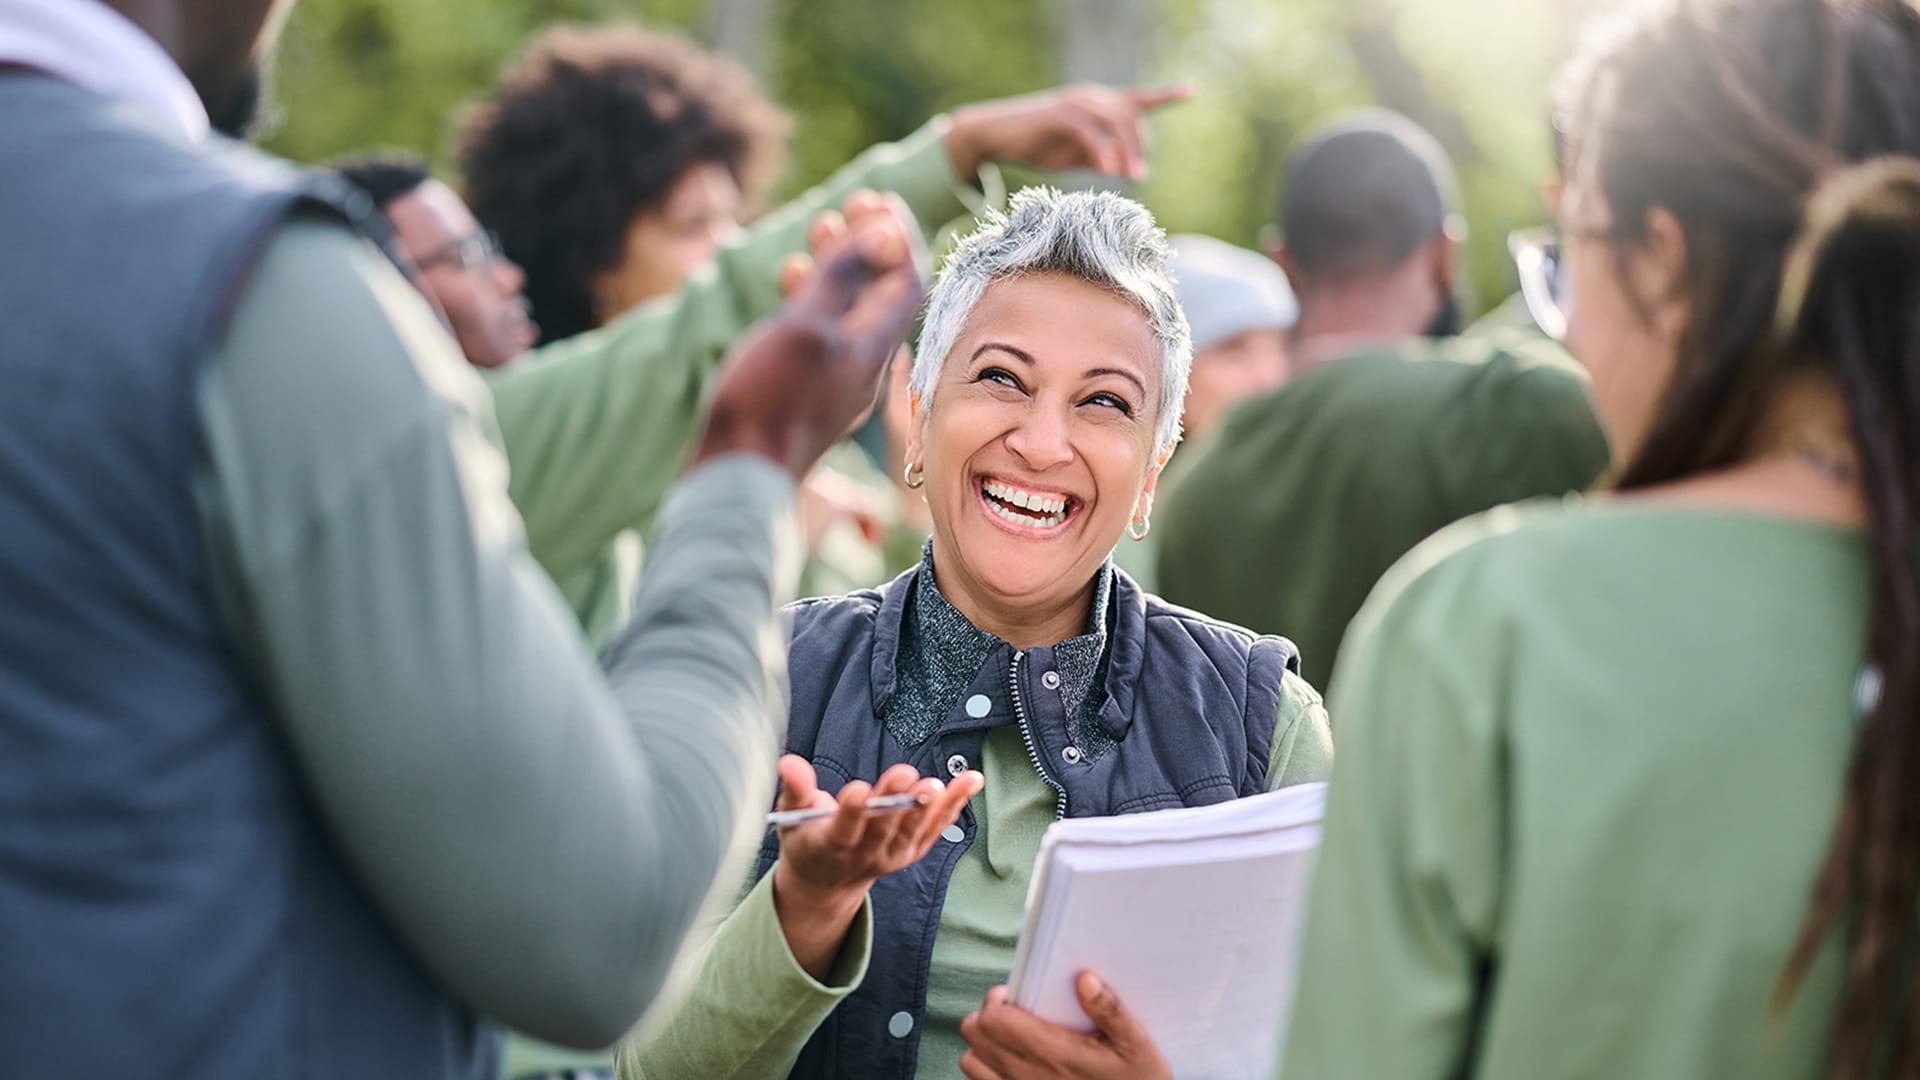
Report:
[{"label": "dark quilted vest worn by the laughing gray-haired woman", "polygon": [[[947,721],[924,742],[902,746],[881,717],[895,692],[895,657],[920,573],[793,607],[787,751],[812,759],[828,792],[847,780],[874,780],[900,761],[945,778],[977,765],[987,730],[1008,723],[1021,724],[1035,767],[1060,790],[1066,817],[1196,807],[1267,790],[1281,678],[1300,669],[1292,644],[1173,607],[1117,571],[1106,703],[1098,713],[1100,736],[1110,742],[1104,753],[1073,746],[1066,705],[1052,692],[1058,678],[1048,678],[1052,650],[1016,653],[1004,644]],[[975,717],[966,701],[981,696],[989,707]],[[973,844],[972,809],[960,830],[958,842],[937,842],[925,859],[874,884],[866,980],[814,1032],[793,1076],[914,1076],[933,934],[954,863]],[[768,838],[760,874],[776,853]]]}]

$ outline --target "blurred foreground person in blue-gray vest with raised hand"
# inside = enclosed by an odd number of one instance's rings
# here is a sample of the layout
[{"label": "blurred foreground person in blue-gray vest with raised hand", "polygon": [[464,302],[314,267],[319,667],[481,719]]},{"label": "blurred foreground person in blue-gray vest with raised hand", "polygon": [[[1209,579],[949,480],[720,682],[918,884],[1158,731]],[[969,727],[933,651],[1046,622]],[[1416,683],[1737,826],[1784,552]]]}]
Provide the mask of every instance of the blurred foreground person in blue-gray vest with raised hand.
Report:
[{"label": "blurred foreground person in blue-gray vest with raised hand", "polygon": [[242,131],[276,0],[0,4],[0,1047],[482,1078],[639,1017],[772,780],[795,479],[920,300],[870,196],[745,342],[603,676],[430,309]]}]

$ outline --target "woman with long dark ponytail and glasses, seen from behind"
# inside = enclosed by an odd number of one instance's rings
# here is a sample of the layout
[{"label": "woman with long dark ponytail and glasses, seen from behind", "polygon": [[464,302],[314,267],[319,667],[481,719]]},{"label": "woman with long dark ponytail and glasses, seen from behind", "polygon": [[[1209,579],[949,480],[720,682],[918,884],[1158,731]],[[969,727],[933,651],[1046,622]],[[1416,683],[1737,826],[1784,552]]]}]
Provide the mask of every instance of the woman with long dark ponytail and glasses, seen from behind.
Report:
[{"label": "woman with long dark ponytail and glasses, seen from behind", "polygon": [[1920,15],[1642,8],[1559,115],[1613,490],[1354,621],[1284,1076],[1920,1076]]}]

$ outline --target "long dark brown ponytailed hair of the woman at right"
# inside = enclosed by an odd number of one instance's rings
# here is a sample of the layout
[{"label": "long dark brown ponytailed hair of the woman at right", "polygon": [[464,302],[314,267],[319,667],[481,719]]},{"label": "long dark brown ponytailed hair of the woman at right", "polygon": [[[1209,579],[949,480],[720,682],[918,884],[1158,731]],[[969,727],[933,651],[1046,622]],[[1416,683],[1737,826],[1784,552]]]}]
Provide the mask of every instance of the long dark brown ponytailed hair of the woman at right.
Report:
[{"label": "long dark brown ponytailed hair of the woman at right", "polygon": [[[1905,0],[1668,0],[1571,67],[1563,117],[1620,250],[1686,234],[1680,359],[1620,490],[1740,461],[1788,377],[1847,405],[1870,511],[1862,724],[1782,974],[1845,936],[1828,1076],[1920,1076],[1920,13]],[[1878,682],[1878,694],[1874,694]]]}]

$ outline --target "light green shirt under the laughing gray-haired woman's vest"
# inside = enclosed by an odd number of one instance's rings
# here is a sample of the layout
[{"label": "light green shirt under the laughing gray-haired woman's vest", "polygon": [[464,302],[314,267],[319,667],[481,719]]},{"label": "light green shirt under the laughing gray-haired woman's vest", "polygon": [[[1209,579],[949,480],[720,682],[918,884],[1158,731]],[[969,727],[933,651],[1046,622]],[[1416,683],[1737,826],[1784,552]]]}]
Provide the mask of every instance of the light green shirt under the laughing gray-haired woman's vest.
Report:
[{"label": "light green shirt under the laughing gray-haired woman's vest", "polygon": [[[1271,786],[1325,780],[1331,769],[1332,738],[1319,694],[1288,675],[1267,765]],[[981,773],[987,788],[973,798],[973,846],[954,865],[933,940],[916,1068],[924,1080],[960,1076],[960,1020],[1012,970],[1033,859],[1056,813],[1054,790],[1035,771],[1018,726],[987,732]],[[689,997],[662,1009],[666,1015],[649,1020],[622,1053],[620,1078],[787,1076],[814,1028],[860,986],[872,944],[866,909],[828,982],[810,978],[787,949],[768,874],[707,944]]]}]

